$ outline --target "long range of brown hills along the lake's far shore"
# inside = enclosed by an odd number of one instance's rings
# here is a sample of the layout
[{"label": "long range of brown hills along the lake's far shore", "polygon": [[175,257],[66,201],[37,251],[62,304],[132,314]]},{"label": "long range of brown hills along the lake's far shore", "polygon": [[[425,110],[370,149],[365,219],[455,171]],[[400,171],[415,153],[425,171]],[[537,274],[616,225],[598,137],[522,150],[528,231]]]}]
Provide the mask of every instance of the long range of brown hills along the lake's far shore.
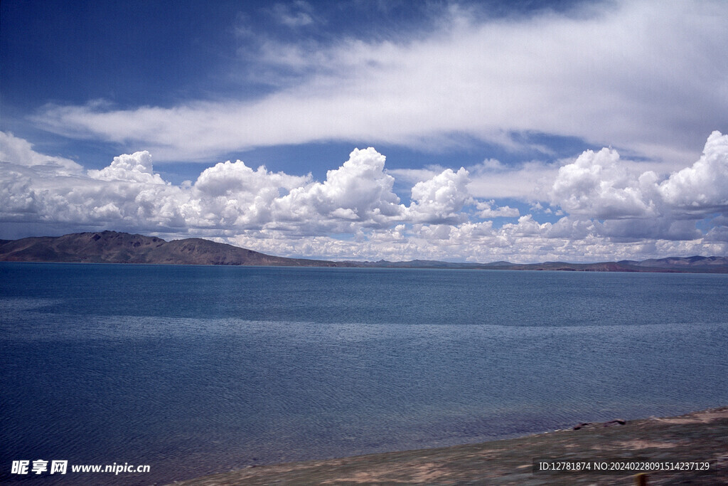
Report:
[{"label": "long range of brown hills along the lake's far shore", "polygon": [[329,262],[271,256],[202,238],[165,241],[161,238],[102,231],[58,237],[0,240],[0,261],[68,263],[146,263],[181,265],[268,265],[275,267],[449,268],[483,270],[563,270],[572,272],[728,273],[727,256],[670,256],[641,262],[453,263],[436,260],[409,262]]}]

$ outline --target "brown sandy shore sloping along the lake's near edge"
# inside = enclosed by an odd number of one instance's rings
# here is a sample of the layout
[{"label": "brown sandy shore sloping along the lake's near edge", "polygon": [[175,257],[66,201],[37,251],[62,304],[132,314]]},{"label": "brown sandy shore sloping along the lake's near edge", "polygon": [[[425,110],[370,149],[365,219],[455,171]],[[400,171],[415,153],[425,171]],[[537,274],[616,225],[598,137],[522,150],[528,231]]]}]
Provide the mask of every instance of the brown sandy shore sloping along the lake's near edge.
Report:
[{"label": "brown sandy shore sloping along the lake's near edge", "polygon": [[[711,461],[713,472],[657,471],[648,485],[727,485],[728,407],[670,418],[592,423],[568,430],[437,449],[248,467],[177,485],[633,485],[635,472],[533,472],[534,458]],[[575,424],[576,426],[577,424]]]}]

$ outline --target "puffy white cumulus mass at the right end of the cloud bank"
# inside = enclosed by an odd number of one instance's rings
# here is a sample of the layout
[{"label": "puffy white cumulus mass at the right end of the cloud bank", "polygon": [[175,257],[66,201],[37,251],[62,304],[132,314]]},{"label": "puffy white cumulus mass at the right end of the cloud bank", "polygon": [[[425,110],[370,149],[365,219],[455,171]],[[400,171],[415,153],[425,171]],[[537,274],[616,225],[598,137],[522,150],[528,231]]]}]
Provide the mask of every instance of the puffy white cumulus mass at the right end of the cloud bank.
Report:
[{"label": "puffy white cumulus mass at the right end of the cloud bank", "polygon": [[569,213],[553,235],[583,234],[582,219],[615,240],[697,240],[703,233],[696,220],[728,214],[728,136],[711,133],[703,156],[664,180],[654,171],[639,173],[615,150],[587,150],[559,169],[550,202]]}]

